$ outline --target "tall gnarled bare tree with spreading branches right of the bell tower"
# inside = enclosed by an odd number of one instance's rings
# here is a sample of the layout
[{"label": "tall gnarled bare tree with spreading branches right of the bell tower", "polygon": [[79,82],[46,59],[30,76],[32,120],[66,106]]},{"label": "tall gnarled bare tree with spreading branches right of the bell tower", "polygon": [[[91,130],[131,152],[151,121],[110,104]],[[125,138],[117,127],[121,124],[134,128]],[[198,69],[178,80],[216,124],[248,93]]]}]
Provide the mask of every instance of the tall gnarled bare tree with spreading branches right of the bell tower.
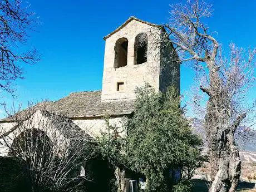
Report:
[{"label": "tall gnarled bare tree with spreading branches right of the bell tower", "polygon": [[199,89],[208,97],[205,132],[213,179],[210,191],[233,192],[241,169],[235,134],[255,107],[255,104],[248,106],[246,99],[253,86],[256,51],[246,52],[231,43],[230,53],[225,57],[214,38],[216,33],[209,33],[209,27],[203,22],[211,16],[211,7],[203,0],[172,5],[161,41],[173,45],[170,62],[192,63]]}]

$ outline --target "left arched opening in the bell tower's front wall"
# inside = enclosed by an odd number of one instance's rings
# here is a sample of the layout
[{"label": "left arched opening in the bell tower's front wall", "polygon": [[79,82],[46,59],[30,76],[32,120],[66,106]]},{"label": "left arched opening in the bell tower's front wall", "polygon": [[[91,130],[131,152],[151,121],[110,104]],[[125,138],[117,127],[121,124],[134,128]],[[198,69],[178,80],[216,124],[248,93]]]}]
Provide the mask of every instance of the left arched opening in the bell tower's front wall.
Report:
[{"label": "left arched opening in the bell tower's front wall", "polygon": [[128,40],[123,37],[116,41],[114,67],[124,67],[127,65]]}]

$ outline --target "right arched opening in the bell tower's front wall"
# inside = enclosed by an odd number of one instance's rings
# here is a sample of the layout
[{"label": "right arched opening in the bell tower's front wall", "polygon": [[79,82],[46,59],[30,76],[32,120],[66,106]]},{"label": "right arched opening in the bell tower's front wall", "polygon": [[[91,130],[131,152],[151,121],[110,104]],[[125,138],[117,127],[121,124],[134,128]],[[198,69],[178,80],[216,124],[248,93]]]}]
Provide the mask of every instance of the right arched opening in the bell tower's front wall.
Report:
[{"label": "right arched opening in the bell tower's front wall", "polygon": [[140,33],[135,37],[134,43],[134,65],[147,62],[147,35]]}]

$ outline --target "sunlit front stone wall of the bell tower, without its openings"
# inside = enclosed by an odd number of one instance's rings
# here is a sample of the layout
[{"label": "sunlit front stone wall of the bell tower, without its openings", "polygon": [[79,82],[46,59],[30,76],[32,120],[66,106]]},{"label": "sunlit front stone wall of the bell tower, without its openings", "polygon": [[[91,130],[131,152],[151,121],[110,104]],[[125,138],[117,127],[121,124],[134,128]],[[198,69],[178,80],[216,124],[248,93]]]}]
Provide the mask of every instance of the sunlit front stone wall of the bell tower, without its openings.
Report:
[{"label": "sunlit front stone wall of the bell tower, without its openings", "polygon": [[[106,39],[104,74],[102,80],[102,101],[135,99],[134,90],[137,86],[150,83],[152,87],[159,91],[159,48],[154,47],[154,36],[148,35],[148,52],[147,62],[140,65],[134,65],[134,43],[135,37],[140,33],[149,34],[151,31],[160,34],[159,28],[149,26],[148,24],[132,20],[120,31],[114,33]],[[128,53],[127,66],[115,68],[115,43],[119,38],[127,38]],[[117,82],[124,82],[124,90],[117,91]]]}]

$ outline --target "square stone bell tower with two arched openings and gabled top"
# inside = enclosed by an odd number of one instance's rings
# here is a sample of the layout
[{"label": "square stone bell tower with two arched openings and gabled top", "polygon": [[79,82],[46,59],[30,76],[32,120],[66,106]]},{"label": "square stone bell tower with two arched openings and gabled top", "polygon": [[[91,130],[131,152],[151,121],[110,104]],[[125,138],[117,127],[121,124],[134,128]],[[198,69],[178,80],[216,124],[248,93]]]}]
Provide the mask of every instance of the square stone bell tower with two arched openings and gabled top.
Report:
[{"label": "square stone bell tower with two arched openings and gabled top", "polygon": [[[160,25],[130,17],[115,31],[104,37],[105,57],[102,79],[102,101],[135,99],[136,87],[149,83],[156,91],[164,90],[169,82],[180,87],[180,67],[163,67],[170,50],[156,43],[164,32]],[[175,63],[174,63],[175,64]],[[175,68],[170,75],[168,70]],[[175,82],[174,82],[175,76]],[[168,83],[166,83],[166,82]]]}]

